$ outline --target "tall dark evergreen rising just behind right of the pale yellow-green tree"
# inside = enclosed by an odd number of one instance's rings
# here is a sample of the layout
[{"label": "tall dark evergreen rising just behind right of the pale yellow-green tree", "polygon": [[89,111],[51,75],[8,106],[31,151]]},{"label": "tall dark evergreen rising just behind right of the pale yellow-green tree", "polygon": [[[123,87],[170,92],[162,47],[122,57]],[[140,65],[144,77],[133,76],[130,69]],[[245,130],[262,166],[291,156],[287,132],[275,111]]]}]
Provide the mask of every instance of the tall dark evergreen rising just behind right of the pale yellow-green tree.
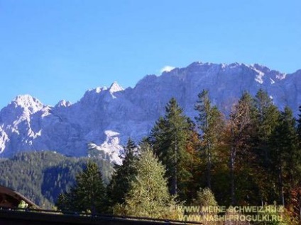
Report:
[{"label": "tall dark evergreen rising just behind right of the pale yellow-green tree", "polygon": [[185,187],[192,179],[190,164],[193,154],[187,151],[192,135],[192,122],[172,98],[165,108],[165,116],[155,123],[150,137],[155,154],[166,166],[166,177],[172,195],[186,198]]}]

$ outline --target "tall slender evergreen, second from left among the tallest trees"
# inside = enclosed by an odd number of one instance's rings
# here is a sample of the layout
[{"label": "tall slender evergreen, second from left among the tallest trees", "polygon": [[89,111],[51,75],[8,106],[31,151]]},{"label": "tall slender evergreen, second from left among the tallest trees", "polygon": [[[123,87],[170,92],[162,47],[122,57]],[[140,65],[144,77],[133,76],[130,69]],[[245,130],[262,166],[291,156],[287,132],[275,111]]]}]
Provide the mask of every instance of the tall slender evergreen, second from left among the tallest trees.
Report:
[{"label": "tall slender evergreen, second from left among the tallest trees", "polygon": [[202,146],[207,164],[207,186],[211,189],[214,149],[217,147],[219,134],[221,134],[224,121],[222,120],[218,108],[212,106],[209,100],[208,91],[203,90],[202,93],[198,94],[195,110],[199,113],[198,116],[195,117],[195,120],[197,121],[198,128],[202,132]]}]

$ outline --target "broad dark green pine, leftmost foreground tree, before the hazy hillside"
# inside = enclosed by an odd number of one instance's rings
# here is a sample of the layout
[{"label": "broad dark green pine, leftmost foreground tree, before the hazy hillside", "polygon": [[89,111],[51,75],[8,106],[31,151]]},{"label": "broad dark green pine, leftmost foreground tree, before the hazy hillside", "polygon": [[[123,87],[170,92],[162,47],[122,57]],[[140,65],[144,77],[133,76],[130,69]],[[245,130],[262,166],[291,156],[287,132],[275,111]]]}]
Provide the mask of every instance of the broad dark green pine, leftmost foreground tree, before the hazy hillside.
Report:
[{"label": "broad dark green pine, leftmost foreground tree, before the hazy hillside", "polygon": [[[58,209],[77,212],[104,212],[106,192],[102,173],[96,163],[88,162],[82,173],[77,174],[76,184],[70,192],[60,195]],[[67,205],[69,204],[69,205]]]}]

